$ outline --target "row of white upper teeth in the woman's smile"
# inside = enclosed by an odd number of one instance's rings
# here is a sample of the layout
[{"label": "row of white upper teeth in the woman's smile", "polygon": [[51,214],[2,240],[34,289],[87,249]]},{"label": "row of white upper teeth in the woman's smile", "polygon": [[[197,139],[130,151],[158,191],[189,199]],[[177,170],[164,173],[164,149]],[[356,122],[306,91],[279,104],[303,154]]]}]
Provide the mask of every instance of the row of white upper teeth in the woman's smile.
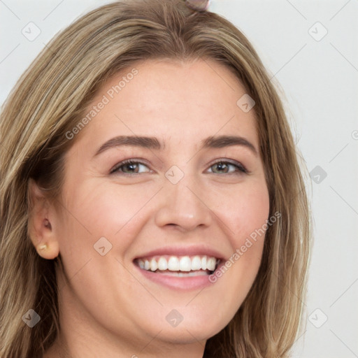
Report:
[{"label": "row of white upper teeth in the woman's smile", "polygon": [[138,265],[147,271],[214,271],[219,260],[215,257],[199,256],[165,256],[153,257],[152,259],[138,259]]}]

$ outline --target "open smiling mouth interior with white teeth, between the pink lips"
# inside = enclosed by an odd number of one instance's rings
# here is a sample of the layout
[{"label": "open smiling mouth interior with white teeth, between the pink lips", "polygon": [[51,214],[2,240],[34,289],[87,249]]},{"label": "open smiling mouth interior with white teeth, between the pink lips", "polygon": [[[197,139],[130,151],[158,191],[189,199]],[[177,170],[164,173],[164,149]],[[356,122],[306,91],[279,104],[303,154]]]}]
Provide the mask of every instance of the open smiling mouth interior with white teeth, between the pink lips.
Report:
[{"label": "open smiling mouth interior with white teeth, between the pink lips", "polygon": [[221,259],[208,255],[157,255],[134,259],[134,264],[142,270],[176,277],[211,275],[220,262]]}]

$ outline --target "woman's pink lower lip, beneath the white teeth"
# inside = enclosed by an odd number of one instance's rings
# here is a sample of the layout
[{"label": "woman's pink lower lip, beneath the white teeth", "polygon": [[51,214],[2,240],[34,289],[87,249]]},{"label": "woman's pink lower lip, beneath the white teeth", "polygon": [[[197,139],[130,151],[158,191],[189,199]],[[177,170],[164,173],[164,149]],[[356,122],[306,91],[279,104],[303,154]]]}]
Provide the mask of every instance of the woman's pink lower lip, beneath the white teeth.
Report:
[{"label": "woman's pink lower lip, beneath the white teeth", "polygon": [[[136,268],[142,273],[145,278],[152,280],[153,282],[159,283],[171,289],[180,289],[182,291],[190,291],[193,289],[199,289],[213,285],[213,282],[210,282],[210,275],[197,275],[197,276],[188,276],[188,277],[179,277],[166,275],[165,273],[154,273],[152,271],[144,270],[136,264]],[[219,265],[220,266],[220,265]]]}]

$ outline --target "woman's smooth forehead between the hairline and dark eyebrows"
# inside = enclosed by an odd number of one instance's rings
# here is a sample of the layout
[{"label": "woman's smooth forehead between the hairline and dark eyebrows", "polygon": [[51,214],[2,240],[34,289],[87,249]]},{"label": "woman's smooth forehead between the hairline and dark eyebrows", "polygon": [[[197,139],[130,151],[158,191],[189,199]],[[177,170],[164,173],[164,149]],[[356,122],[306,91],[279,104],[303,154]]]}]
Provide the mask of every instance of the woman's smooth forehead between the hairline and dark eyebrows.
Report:
[{"label": "woman's smooth forehead between the hairline and dark eyebrows", "polygon": [[254,110],[238,106],[245,94],[234,73],[213,60],[136,62],[97,91],[81,141],[93,146],[111,136],[150,134],[166,138],[168,148],[167,142],[238,134],[257,143]]}]

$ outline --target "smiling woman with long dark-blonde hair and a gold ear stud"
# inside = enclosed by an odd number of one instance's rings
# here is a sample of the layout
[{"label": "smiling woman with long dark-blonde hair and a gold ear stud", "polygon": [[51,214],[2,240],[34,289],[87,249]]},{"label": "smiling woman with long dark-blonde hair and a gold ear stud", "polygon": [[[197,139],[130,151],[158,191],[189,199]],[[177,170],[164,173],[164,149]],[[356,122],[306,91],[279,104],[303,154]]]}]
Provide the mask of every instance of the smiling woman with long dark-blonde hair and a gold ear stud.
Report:
[{"label": "smiling woman with long dark-blonde hair and a gold ear stud", "polygon": [[180,0],[97,8],[0,126],[1,357],[288,357],[308,202],[233,24]]}]

